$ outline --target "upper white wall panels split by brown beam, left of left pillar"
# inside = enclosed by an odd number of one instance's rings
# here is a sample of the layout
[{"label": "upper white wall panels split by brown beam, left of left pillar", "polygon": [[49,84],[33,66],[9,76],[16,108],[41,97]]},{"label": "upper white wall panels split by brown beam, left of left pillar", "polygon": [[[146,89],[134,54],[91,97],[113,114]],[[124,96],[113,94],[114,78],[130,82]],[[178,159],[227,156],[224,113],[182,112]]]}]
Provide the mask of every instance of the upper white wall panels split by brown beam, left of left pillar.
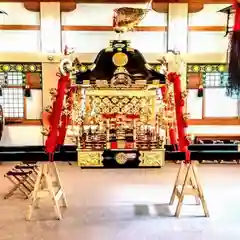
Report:
[{"label": "upper white wall panels split by brown beam, left of left pillar", "polygon": [[[40,14],[30,12],[23,3],[0,3],[8,15],[0,15],[0,25],[40,25]],[[40,31],[0,30],[0,52],[40,51]]]}]

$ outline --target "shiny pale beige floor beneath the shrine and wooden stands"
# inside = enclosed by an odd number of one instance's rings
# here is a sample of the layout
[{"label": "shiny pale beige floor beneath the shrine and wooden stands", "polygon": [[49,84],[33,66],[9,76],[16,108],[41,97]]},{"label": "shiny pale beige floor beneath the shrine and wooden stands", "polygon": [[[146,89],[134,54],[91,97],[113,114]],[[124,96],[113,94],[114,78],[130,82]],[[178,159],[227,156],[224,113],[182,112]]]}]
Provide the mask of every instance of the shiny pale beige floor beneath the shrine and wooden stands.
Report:
[{"label": "shiny pale beige floor beneath the shrine and wooden stands", "polygon": [[167,204],[178,165],[125,170],[58,166],[69,208],[62,221],[55,221],[52,207],[43,202],[30,222],[24,220],[28,200],[3,200],[11,186],[3,174],[11,165],[0,166],[0,240],[240,239],[240,165],[200,165],[210,218],[200,217],[201,207],[186,204],[180,219],[173,217],[175,206]]}]

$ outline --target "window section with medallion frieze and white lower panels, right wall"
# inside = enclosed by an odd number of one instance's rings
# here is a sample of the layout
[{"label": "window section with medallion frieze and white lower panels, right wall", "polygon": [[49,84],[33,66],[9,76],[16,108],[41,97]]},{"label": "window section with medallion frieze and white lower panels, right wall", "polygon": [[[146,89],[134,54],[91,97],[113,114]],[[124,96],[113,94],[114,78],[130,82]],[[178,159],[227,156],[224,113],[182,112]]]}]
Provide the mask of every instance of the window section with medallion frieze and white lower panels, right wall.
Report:
[{"label": "window section with medallion frieze and white lower panels, right wall", "polygon": [[[237,117],[239,115],[238,100],[227,95],[227,84],[226,65],[189,64],[188,89],[191,94],[189,94],[188,105],[189,109],[192,106],[192,118]],[[197,97],[199,86],[204,88],[203,97],[200,99]],[[198,106],[198,109],[195,106]]]}]

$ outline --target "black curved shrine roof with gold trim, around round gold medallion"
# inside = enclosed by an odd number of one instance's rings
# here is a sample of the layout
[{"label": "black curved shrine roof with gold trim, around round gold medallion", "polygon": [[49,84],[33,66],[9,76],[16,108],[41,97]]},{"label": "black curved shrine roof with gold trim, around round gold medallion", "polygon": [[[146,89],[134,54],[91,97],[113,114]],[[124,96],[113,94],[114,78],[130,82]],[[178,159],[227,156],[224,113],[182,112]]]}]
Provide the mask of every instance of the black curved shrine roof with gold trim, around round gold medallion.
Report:
[{"label": "black curved shrine roof with gold trim, around round gold medallion", "polygon": [[160,65],[147,64],[142,53],[136,49],[129,47],[128,41],[112,41],[109,48],[101,50],[93,64],[80,66],[77,72],[77,84],[82,84],[84,80],[94,82],[96,80],[110,81],[118,66],[114,64],[113,56],[116,53],[124,53],[127,55],[127,64],[124,65],[129,77],[134,80],[147,80],[151,83],[158,80],[159,83],[165,83],[165,75],[160,73]]}]

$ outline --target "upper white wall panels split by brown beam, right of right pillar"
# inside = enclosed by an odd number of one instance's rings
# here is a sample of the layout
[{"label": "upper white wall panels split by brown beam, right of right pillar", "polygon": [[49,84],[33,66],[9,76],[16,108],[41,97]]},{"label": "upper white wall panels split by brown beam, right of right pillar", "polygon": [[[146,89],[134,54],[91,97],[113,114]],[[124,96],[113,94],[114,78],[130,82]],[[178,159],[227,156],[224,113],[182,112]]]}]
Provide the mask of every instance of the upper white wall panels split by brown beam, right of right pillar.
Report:
[{"label": "upper white wall panels split by brown beam, right of right pillar", "polygon": [[[227,6],[229,4],[205,4],[202,11],[189,14],[189,26],[226,26],[227,15],[218,11]],[[188,52],[226,52],[228,38],[224,35],[225,32],[189,31]]]}]

